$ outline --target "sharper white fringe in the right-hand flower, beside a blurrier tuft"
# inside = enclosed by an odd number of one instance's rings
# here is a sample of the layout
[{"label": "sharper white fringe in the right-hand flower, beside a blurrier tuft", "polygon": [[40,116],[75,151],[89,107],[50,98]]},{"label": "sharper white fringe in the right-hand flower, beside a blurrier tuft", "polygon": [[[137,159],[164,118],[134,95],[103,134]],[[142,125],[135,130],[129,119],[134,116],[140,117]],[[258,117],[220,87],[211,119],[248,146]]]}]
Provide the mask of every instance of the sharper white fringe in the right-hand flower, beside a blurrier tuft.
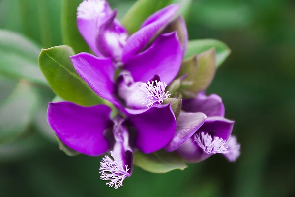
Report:
[{"label": "sharper white fringe in the right-hand flower, beside a blurrier tuft", "polygon": [[228,147],[225,146],[226,141],[222,138],[214,137],[213,139],[208,133],[201,132],[195,134],[194,139],[207,154],[228,153]]}]

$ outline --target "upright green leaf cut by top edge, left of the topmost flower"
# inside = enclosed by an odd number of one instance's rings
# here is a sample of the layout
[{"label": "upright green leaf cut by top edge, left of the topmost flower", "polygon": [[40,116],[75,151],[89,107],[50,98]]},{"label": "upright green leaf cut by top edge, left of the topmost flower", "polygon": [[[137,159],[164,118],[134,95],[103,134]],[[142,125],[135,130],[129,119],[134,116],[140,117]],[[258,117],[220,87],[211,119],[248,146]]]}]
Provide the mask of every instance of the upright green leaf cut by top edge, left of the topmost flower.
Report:
[{"label": "upright green leaf cut by top edge, left of the topmost flower", "polygon": [[89,46],[80,35],[77,27],[77,7],[82,1],[83,0],[62,0],[62,41],[63,44],[72,47],[76,53],[89,52]]}]

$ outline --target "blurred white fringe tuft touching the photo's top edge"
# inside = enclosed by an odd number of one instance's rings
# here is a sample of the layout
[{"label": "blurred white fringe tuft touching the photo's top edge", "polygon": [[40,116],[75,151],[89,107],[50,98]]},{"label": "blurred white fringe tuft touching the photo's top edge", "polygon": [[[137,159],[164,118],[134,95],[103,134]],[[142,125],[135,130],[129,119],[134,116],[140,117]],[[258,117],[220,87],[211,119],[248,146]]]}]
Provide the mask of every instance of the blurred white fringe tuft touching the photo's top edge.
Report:
[{"label": "blurred white fringe tuft touching the photo's top edge", "polygon": [[80,19],[97,19],[104,17],[105,0],[84,0],[77,8],[77,17]]}]

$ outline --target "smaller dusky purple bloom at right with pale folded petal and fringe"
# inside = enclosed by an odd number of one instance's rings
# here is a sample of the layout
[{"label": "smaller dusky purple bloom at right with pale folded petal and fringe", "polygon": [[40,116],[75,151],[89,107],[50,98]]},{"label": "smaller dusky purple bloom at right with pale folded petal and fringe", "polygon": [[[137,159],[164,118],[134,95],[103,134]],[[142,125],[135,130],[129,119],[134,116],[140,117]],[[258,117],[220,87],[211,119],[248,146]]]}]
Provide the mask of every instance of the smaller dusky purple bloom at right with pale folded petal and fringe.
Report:
[{"label": "smaller dusky purple bloom at right with pale folded petal and fringe", "polygon": [[[233,162],[240,155],[240,145],[232,136],[234,121],[224,118],[224,105],[218,95],[201,92],[184,99],[177,119],[177,131],[165,147],[176,151],[187,162],[200,162],[216,153]],[[195,118],[194,118],[195,117]]]}]

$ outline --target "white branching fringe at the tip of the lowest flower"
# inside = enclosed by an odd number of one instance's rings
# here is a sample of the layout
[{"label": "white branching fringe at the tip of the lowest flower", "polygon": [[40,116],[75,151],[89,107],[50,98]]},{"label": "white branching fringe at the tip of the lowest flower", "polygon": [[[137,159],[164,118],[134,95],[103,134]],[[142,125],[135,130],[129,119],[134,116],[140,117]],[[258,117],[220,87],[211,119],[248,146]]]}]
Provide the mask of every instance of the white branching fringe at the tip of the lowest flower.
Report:
[{"label": "white branching fringe at the tip of the lowest flower", "polygon": [[110,180],[110,182],[106,183],[109,187],[113,187],[118,189],[123,186],[123,181],[126,177],[129,177],[128,173],[128,165],[125,165],[125,169],[123,167],[122,161],[118,162],[118,157],[114,155],[111,151],[111,156],[114,160],[112,160],[109,156],[105,156],[100,162],[99,170],[101,170],[100,178],[105,180]]}]

